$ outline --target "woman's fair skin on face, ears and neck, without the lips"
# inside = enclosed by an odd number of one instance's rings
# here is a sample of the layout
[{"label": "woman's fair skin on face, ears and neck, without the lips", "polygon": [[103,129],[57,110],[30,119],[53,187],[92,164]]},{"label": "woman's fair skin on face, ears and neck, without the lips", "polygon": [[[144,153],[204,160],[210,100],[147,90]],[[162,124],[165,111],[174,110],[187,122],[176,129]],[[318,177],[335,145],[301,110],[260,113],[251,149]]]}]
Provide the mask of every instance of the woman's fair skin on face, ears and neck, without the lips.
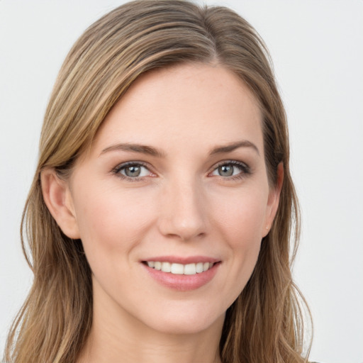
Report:
[{"label": "woman's fair skin on face, ears and neck, without the lips", "polygon": [[[52,216],[82,239],[93,272],[94,324],[79,362],[220,362],[225,311],[250,278],[279,203],[282,171],[269,186],[261,120],[257,101],[227,69],[161,69],[113,107],[68,181],[43,172]],[[143,162],[141,177],[125,179],[130,161]],[[233,175],[221,175],[220,163]],[[143,261],[163,255],[220,264],[207,284],[179,291],[147,273]]]}]

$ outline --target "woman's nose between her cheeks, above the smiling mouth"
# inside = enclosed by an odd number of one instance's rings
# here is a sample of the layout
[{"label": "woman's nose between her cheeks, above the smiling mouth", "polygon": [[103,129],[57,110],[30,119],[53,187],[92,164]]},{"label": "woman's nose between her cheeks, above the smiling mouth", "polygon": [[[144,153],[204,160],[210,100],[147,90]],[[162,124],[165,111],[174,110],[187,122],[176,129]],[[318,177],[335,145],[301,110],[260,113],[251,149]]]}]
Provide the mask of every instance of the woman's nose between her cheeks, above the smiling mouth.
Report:
[{"label": "woman's nose between her cheeks, above the smiling mouth", "polygon": [[193,181],[175,181],[160,199],[159,230],[167,238],[190,241],[206,235],[207,204],[201,186]]}]

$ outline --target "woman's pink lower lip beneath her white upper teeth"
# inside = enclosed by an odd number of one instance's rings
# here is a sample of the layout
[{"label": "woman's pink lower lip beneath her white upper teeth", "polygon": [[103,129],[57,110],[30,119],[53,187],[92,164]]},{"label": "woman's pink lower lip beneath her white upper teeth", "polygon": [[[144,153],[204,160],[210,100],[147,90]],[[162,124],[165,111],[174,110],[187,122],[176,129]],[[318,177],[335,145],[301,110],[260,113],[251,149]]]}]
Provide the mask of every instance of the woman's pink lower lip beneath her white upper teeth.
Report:
[{"label": "woman's pink lower lip beneath her white upper teeth", "polygon": [[211,269],[205,272],[194,275],[181,275],[172,274],[170,272],[162,272],[161,270],[153,269],[148,267],[147,264],[143,264],[146,271],[150,276],[163,286],[169,289],[174,289],[178,291],[191,291],[199,289],[201,286],[208,284],[211,279],[216,275],[220,262],[213,264]]}]

